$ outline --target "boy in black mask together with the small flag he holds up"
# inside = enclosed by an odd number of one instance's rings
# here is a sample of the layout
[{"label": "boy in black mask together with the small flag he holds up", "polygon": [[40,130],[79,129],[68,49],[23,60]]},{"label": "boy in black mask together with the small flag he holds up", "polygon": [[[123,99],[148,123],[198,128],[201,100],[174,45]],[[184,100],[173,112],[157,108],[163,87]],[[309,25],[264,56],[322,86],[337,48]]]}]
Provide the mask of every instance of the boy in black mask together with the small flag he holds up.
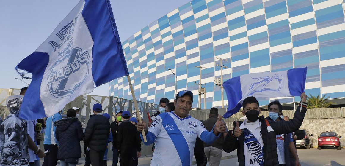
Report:
[{"label": "boy in black mask together with the small flag he holds up", "polygon": [[[307,68],[296,68],[274,73],[251,73],[224,82],[229,109],[224,118],[243,108],[248,120],[234,122],[234,129],[225,137],[223,149],[237,149],[240,166],[279,166],[276,135],[291,133],[300,128],[307,111],[304,93]],[[255,97],[300,96],[294,118],[290,121],[269,121],[263,116]]]}]

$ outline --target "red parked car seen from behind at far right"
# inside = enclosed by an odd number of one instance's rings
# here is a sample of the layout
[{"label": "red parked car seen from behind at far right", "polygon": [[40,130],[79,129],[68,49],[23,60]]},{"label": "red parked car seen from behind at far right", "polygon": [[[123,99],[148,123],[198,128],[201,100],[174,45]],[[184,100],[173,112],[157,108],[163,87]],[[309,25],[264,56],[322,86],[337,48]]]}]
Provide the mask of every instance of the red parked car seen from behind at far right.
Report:
[{"label": "red parked car seen from behind at far right", "polygon": [[318,150],[321,150],[325,147],[336,147],[338,150],[342,149],[342,144],[340,142],[340,138],[336,132],[322,132],[317,139]]}]

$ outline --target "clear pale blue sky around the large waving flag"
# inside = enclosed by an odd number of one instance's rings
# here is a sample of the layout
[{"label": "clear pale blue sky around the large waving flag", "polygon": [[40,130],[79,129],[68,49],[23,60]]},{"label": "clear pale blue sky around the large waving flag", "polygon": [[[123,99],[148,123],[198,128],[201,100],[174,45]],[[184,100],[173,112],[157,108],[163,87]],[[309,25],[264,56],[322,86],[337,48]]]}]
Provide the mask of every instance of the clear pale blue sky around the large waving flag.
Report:
[{"label": "clear pale blue sky around the large waving flag", "polygon": [[[121,41],[190,0],[110,0]],[[79,0],[6,0],[0,5],[0,88],[26,86],[16,65],[46,40]],[[30,79],[24,80],[30,83]],[[108,84],[92,95],[109,96]]]}]

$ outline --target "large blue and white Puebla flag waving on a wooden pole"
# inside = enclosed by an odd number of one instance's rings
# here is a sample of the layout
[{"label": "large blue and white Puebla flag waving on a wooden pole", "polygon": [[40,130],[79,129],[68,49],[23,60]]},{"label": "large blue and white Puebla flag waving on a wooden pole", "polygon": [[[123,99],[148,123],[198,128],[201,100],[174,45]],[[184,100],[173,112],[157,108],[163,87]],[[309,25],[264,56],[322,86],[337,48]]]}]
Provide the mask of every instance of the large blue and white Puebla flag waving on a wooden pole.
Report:
[{"label": "large blue and white Puebla flag waving on a wooden pole", "polygon": [[128,69],[109,0],[80,0],[34,53],[16,67],[32,73],[19,117],[35,120]]}]

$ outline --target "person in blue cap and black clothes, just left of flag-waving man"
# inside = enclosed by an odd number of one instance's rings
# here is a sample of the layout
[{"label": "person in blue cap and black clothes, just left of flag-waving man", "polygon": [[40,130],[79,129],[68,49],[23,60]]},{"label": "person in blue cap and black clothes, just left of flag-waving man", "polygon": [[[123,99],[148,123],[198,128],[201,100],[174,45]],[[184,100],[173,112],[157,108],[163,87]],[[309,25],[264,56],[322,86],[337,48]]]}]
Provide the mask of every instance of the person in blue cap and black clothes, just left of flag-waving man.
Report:
[{"label": "person in blue cap and black clothes, just left of flag-waving man", "polygon": [[137,137],[137,129],[134,124],[129,121],[130,113],[128,111],[122,112],[122,122],[117,129],[117,149],[120,151],[121,166],[137,165],[137,161],[132,158],[132,155],[139,152],[141,139]]}]

